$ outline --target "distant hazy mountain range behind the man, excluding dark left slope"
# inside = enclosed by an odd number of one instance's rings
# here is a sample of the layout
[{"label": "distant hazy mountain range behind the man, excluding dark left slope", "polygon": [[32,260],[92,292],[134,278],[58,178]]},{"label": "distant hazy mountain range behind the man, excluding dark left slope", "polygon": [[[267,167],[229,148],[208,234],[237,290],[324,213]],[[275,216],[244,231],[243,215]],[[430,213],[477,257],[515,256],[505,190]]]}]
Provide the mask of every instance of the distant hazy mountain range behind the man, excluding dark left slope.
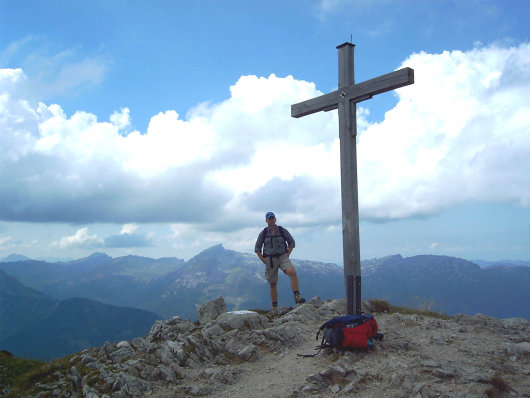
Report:
[{"label": "distant hazy mountain range behind the man, excluding dark left slope", "polygon": [[[343,269],[335,264],[293,259],[302,293],[310,298],[344,294]],[[524,262],[520,262],[524,263]],[[363,299],[396,305],[431,305],[434,310],[496,317],[530,316],[530,268],[423,255],[364,260]],[[213,246],[184,261],[175,257],[112,258],[104,253],[63,263],[38,260],[1,262],[0,270],[27,288],[56,300],[83,297],[152,311],[163,317],[196,317],[196,305],[223,296],[229,309],[268,308],[263,264],[254,254]],[[288,278],[280,276],[280,305],[293,305]],[[455,299],[457,294],[460,299]],[[519,295],[520,299],[515,300]],[[508,300],[506,302],[506,300]],[[514,301],[515,300],[515,301]],[[522,301],[519,306],[518,302]],[[498,304],[496,304],[498,303]]]}]

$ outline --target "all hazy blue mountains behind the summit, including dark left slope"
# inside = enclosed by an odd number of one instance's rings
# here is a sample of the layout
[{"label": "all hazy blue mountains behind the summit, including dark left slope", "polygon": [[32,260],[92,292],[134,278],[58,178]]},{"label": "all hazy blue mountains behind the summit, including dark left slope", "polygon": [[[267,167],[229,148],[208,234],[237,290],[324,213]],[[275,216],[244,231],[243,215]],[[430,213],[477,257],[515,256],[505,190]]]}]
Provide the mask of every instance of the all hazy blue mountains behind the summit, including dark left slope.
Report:
[{"label": "all hazy blue mountains behind the summit, including dark left slope", "polygon": [[[143,335],[157,318],[178,315],[193,320],[197,305],[219,296],[228,310],[270,307],[263,264],[254,254],[222,245],[189,261],[111,258],[104,253],[63,263],[7,260],[15,261],[0,262],[0,349],[22,356],[31,354],[20,349],[28,341],[45,346],[56,342],[54,350],[38,356],[48,359],[105,340]],[[306,298],[343,297],[341,267],[292,261]],[[363,299],[385,299],[450,315],[528,319],[529,286],[528,266],[480,268],[459,258],[432,255],[394,255],[362,262]],[[283,275],[279,293],[280,306],[293,305],[289,281]]]}]

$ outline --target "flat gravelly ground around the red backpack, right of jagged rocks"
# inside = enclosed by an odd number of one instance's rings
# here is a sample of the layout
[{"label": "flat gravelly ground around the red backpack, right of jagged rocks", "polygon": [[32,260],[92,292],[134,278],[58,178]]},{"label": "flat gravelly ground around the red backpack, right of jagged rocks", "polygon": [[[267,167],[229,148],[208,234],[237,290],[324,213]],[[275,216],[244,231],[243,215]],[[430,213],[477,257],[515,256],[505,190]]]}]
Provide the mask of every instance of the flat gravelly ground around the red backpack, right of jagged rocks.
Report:
[{"label": "flat gravelly ground around the red backpack, right of jagged rocks", "polygon": [[[265,354],[258,362],[238,365],[233,385],[216,396],[256,397],[530,397],[528,327],[508,329],[495,318],[464,316],[440,320],[419,315],[376,315],[383,342],[373,351],[321,351],[313,358],[319,324],[307,327],[307,338],[295,348]],[[334,365],[353,371],[350,379],[311,386],[310,375]],[[303,387],[306,386],[305,393]]]}]

